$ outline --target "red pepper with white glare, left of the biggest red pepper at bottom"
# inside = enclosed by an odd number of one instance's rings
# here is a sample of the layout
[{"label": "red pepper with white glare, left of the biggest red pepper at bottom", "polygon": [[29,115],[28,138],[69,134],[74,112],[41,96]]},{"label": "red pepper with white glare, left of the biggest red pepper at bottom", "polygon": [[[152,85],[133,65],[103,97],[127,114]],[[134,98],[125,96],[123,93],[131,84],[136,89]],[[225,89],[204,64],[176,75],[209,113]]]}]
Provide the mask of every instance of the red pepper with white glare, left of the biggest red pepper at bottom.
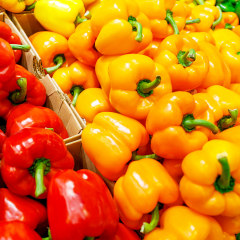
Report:
[{"label": "red pepper with white glare, left of the biggest red pepper at bottom", "polygon": [[35,229],[47,221],[47,210],[39,202],[0,188],[0,221],[20,221]]}]

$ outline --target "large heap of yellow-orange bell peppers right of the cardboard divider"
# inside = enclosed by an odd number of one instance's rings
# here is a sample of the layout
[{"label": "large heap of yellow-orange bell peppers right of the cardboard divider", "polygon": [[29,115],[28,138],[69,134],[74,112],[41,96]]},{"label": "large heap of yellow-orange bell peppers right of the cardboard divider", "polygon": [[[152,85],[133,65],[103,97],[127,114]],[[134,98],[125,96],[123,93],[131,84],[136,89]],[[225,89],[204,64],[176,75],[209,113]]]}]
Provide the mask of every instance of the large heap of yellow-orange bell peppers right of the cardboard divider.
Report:
[{"label": "large heap of yellow-orange bell peppers right of the cardboard divider", "polygon": [[121,221],[144,240],[240,239],[239,5],[34,4],[46,31],[30,41],[86,119],[83,148],[115,181]]}]

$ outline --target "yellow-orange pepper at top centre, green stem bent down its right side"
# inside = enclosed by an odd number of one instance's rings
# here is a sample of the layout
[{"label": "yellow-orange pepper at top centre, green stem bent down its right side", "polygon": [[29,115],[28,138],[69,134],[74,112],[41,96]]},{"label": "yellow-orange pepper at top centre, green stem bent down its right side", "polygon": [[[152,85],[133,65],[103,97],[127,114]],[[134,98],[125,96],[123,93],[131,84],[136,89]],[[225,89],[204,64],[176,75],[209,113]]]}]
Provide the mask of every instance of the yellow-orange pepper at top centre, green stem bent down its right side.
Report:
[{"label": "yellow-orange pepper at top centre, green stem bent down its right side", "polygon": [[91,26],[95,47],[103,55],[136,53],[152,41],[150,22],[133,0],[102,1]]}]

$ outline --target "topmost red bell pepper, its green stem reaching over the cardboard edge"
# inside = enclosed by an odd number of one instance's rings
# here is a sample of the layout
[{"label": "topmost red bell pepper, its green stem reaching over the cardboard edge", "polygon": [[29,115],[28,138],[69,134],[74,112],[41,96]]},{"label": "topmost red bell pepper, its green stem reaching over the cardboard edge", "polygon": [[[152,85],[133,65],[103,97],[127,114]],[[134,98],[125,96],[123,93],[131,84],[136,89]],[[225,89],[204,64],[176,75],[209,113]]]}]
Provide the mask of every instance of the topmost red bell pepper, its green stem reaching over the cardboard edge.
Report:
[{"label": "topmost red bell pepper, its green stem reaching over the cardboard edge", "polygon": [[22,45],[19,36],[16,33],[13,33],[11,28],[2,21],[0,21],[0,38],[5,39],[11,44],[12,49],[15,49],[13,52],[16,63],[20,60],[22,51],[28,51],[30,49],[29,45]]}]

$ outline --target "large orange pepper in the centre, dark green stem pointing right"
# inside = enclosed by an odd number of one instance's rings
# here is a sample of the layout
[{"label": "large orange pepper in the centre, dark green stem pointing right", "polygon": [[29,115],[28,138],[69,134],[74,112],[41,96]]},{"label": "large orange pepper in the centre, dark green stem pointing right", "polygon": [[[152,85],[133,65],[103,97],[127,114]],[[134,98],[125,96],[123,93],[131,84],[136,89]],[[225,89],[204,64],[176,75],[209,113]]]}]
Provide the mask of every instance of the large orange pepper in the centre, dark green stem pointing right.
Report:
[{"label": "large orange pepper in the centre, dark green stem pointing right", "polygon": [[135,119],[145,119],[153,104],[172,91],[164,67],[144,55],[120,56],[109,64],[108,72],[112,106]]}]

